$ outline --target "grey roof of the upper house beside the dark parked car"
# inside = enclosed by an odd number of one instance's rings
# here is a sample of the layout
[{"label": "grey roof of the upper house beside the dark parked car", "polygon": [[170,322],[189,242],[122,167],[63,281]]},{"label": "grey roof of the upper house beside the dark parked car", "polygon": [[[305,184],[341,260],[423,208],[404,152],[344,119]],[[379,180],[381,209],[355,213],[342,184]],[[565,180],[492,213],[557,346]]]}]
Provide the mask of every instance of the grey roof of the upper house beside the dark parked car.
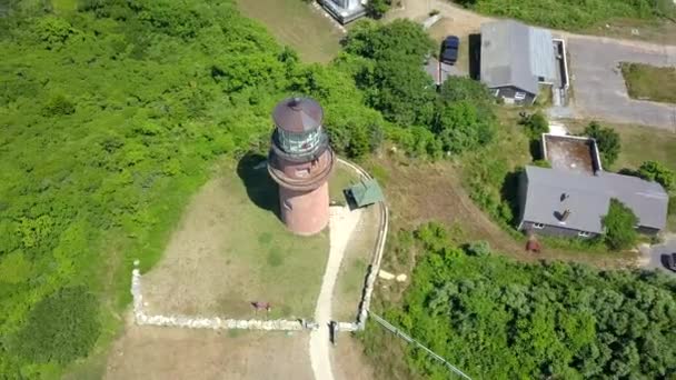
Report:
[{"label": "grey roof of the upper house beside the dark parked car", "polygon": [[551,33],[514,20],[481,24],[480,71],[489,88],[514,86],[537,94],[538,77],[556,80]]}]

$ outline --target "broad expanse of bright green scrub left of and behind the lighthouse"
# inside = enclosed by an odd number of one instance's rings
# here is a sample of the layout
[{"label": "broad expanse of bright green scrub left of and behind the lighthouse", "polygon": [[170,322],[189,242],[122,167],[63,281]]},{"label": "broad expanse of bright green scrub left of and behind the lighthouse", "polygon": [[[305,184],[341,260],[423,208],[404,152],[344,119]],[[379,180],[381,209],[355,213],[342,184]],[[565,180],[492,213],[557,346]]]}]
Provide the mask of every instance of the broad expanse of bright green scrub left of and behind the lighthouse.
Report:
[{"label": "broad expanse of bright green scrub left of and behind the lighthouse", "polygon": [[[344,154],[377,148],[385,124],[349,74],[300,63],[231,2],[92,0],[58,14],[42,3],[11,2],[0,18],[0,373],[9,378],[59,378],[99,336],[87,318],[110,339],[131,262],[157,261],[216,160],[267,149],[276,101],[317,98]],[[105,312],[40,307],[76,298],[71,287]],[[71,323],[68,309],[89,317]],[[63,316],[62,339],[17,346],[57,329],[44,310]]]}]

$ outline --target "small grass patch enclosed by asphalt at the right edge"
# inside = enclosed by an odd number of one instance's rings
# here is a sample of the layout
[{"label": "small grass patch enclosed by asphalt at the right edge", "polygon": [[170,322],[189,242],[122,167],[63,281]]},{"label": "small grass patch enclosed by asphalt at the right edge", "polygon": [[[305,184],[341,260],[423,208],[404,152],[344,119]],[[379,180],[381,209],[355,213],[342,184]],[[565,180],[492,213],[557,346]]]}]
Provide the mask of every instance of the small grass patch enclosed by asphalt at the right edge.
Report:
[{"label": "small grass patch enclosed by asphalt at the right edge", "polygon": [[622,74],[629,97],[676,103],[676,68],[623,62]]}]

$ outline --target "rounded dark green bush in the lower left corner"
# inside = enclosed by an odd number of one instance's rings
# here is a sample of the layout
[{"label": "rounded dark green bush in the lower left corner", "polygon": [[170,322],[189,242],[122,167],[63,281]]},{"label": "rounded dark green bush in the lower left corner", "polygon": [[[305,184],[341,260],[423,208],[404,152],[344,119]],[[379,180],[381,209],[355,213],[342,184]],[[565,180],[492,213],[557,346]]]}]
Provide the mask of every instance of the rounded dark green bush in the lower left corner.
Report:
[{"label": "rounded dark green bush in the lower left corner", "polygon": [[62,288],[36,304],[12,346],[30,361],[68,363],[86,357],[99,333],[96,297],[84,287]]}]

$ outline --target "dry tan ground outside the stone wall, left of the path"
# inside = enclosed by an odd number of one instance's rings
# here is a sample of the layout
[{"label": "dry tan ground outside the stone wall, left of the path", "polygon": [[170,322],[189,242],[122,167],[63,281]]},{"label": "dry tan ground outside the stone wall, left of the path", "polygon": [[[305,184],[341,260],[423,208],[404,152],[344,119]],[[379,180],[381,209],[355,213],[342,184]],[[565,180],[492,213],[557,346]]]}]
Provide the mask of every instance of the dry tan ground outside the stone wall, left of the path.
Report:
[{"label": "dry tan ground outside the stone wall, left of the path", "polygon": [[308,334],[129,324],[105,379],[308,379]]}]

